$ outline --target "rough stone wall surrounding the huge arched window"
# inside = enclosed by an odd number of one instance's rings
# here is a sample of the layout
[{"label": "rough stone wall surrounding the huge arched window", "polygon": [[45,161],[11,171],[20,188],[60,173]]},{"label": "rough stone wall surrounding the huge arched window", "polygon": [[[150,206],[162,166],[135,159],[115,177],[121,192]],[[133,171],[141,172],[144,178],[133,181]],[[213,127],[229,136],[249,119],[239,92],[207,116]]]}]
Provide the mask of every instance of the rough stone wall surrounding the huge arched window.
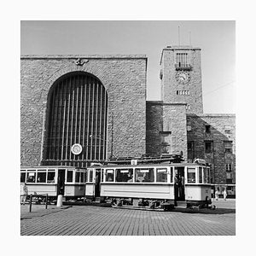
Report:
[{"label": "rough stone wall surrounding the huge arched window", "polygon": [[96,76],[107,90],[108,157],[145,154],[146,69],[145,55],[22,56],[21,165],[40,165],[49,90],[73,72]]}]

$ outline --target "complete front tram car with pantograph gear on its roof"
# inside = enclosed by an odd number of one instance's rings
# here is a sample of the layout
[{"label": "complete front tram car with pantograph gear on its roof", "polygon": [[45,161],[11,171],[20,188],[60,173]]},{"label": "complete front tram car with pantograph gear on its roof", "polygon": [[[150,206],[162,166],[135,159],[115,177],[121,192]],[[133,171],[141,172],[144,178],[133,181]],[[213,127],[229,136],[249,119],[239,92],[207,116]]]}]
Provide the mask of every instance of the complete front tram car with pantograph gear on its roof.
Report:
[{"label": "complete front tram car with pantograph gear on its roof", "polygon": [[207,207],[211,204],[210,168],[200,163],[90,166],[85,196],[113,207]]}]

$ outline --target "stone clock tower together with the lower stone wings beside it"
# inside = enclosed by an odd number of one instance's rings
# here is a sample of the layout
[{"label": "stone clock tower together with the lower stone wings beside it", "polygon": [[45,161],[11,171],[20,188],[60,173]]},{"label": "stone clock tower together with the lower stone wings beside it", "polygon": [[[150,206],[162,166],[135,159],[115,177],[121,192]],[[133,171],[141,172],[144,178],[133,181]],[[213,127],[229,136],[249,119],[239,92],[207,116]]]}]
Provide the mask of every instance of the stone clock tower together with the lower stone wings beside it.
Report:
[{"label": "stone clock tower together with the lower stone wings beside it", "polygon": [[[189,79],[185,82],[177,79],[179,73],[189,75]],[[184,160],[189,162],[195,158],[207,160],[212,166],[212,183],[236,183],[236,116],[203,113],[201,49],[191,46],[163,49],[160,83],[162,101],[147,102],[146,152],[183,151]],[[189,93],[180,95],[178,91]]]}]

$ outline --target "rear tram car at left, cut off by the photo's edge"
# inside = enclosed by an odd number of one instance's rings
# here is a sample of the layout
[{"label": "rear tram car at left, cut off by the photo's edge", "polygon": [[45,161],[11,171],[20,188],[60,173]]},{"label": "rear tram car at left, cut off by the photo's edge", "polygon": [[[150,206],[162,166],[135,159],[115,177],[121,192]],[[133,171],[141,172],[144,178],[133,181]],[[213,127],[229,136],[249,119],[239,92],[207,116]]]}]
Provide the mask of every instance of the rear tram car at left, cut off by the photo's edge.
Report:
[{"label": "rear tram car at left, cut off by the photo's edge", "polygon": [[73,166],[21,167],[20,183],[26,183],[28,195],[48,194],[49,200],[63,195],[66,200],[83,197],[86,169]]}]

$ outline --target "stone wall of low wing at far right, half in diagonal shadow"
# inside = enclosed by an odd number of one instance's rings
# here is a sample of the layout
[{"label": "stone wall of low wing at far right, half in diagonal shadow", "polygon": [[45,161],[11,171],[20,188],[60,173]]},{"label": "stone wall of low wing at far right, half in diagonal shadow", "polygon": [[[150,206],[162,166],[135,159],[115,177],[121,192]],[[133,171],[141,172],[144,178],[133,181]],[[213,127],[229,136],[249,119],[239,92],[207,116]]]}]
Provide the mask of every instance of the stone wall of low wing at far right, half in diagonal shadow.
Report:
[{"label": "stone wall of low wing at far right, half in diagonal shadow", "polygon": [[[235,114],[188,114],[188,142],[194,143],[194,152],[188,152],[189,161],[195,158],[207,160],[212,166],[212,183],[226,183],[226,164],[232,166],[232,183],[236,183],[236,116]],[[206,132],[210,125],[210,132]],[[225,127],[229,126],[227,132]],[[205,142],[212,142],[212,152],[207,153]],[[225,143],[232,143],[231,153],[225,152]]]}]

